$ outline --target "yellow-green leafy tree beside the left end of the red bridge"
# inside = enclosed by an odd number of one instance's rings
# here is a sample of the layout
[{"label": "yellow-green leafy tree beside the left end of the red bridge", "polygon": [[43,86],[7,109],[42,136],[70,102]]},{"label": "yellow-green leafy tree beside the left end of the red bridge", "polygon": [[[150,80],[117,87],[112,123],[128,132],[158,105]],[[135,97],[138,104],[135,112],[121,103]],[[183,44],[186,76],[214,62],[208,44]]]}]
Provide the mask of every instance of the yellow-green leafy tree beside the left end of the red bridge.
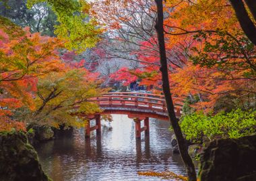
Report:
[{"label": "yellow-green leafy tree beside the left end of the red bridge", "polygon": [[102,92],[96,78],[84,68],[65,68],[42,76],[37,84],[36,110],[26,119],[53,127],[84,125],[83,116],[100,112],[98,105],[89,100]]}]

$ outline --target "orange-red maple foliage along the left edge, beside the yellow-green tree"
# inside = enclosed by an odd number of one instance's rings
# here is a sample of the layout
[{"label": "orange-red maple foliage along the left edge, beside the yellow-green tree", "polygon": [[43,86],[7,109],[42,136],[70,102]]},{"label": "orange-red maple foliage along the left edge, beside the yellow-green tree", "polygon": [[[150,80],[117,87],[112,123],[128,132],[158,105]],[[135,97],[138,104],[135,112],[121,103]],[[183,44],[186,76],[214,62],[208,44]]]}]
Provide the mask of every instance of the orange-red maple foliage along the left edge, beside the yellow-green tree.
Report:
[{"label": "orange-red maple foliage along the left edge, beside the yellow-green tree", "polygon": [[1,125],[5,125],[1,129],[11,129],[8,124],[22,125],[11,120],[13,109],[35,109],[36,77],[59,70],[55,48],[61,43],[55,38],[30,34],[28,29],[23,30],[3,17],[0,21],[0,107]]}]

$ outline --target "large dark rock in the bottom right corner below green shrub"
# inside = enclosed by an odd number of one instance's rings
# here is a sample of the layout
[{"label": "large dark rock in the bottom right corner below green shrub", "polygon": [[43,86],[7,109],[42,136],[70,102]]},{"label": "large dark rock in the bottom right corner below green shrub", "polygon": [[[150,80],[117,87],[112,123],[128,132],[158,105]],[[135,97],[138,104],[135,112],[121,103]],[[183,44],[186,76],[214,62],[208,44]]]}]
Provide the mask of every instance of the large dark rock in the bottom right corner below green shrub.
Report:
[{"label": "large dark rock in the bottom right corner below green shrub", "polygon": [[256,180],[256,135],[212,141],[203,151],[201,181]]}]

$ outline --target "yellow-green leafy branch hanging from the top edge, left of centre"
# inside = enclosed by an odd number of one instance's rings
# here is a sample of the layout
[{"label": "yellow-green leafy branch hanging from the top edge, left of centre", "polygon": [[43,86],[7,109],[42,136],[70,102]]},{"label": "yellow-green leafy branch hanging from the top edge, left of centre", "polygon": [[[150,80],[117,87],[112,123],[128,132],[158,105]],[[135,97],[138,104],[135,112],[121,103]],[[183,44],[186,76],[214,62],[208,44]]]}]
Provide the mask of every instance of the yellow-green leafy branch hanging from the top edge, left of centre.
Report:
[{"label": "yellow-green leafy branch hanging from the top edge, left of centre", "polygon": [[90,5],[86,1],[28,0],[28,7],[42,2],[48,3],[57,15],[59,25],[55,25],[55,34],[65,42],[66,48],[82,52],[96,45],[102,29],[96,27],[95,19],[88,17]]}]

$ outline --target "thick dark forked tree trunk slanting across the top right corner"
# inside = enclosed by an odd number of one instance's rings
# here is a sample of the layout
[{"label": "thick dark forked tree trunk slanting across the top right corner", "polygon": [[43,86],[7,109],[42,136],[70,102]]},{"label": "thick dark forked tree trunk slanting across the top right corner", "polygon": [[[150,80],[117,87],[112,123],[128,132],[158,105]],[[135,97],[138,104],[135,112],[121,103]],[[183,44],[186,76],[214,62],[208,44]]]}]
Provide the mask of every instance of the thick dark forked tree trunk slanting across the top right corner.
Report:
[{"label": "thick dark forked tree trunk slanting across the top right corner", "polygon": [[[230,0],[234,11],[236,12],[236,17],[245,32],[246,36],[256,45],[256,27],[253,21],[250,19],[247,10],[245,9],[245,5],[242,0]],[[256,1],[255,0],[247,0],[246,1],[253,17],[256,16]],[[256,19],[255,19],[256,20]]]}]

